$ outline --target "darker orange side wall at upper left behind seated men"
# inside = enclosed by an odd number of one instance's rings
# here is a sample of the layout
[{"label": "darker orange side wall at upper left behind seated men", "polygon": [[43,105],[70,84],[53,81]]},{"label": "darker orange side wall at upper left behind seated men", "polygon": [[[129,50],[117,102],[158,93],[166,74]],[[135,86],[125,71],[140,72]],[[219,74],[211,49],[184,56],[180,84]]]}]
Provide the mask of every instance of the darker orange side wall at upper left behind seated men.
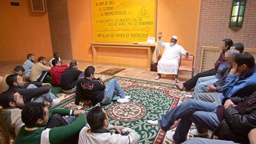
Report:
[{"label": "darker orange side wall at upper left behind seated men", "polygon": [[0,61],[52,57],[49,21],[46,12],[31,12],[30,0],[20,0],[21,7],[0,1]]}]

